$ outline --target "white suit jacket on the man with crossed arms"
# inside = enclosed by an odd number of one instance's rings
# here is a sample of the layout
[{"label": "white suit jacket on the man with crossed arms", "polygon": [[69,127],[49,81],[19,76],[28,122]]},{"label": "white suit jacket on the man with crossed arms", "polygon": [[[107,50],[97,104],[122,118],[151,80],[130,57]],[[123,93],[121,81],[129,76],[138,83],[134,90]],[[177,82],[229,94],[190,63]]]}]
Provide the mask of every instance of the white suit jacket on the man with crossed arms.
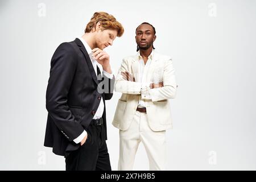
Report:
[{"label": "white suit jacket on the man with crossed arms", "polygon": [[[141,89],[138,55],[125,57],[115,79],[115,92],[121,92],[112,124],[120,130],[127,130],[135,115],[140,98],[145,99],[147,118],[151,130],[163,131],[172,128],[170,100],[176,96],[175,69],[170,56],[154,52],[147,73],[147,82],[161,82],[162,88]],[[135,82],[126,81],[121,72],[129,72]],[[148,97],[150,96],[150,97]]]}]

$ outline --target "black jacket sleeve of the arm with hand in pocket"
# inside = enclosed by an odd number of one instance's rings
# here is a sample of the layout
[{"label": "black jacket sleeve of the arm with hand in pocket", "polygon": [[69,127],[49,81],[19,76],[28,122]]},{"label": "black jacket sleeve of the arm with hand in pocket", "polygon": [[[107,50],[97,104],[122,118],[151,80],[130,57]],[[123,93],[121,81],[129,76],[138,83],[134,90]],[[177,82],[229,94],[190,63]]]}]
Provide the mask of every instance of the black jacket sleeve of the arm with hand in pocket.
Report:
[{"label": "black jacket sleeve of the arm with hand in pocket", "polygon": [[76,73],[75,49],[69,43],[60,44],[52,56],[46,92],[46,109],[59,130],[69,141],[84,131],[68,107],[68,92]]}]

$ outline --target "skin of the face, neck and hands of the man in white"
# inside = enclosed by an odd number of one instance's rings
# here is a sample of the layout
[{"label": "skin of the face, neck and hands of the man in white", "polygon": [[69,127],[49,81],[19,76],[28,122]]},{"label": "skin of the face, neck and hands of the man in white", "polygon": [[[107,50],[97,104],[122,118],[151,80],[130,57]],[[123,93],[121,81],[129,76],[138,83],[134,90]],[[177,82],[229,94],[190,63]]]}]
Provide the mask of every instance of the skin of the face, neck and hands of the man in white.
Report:
[{"label": "skin of the face, neck and hands of the man in white", "polygon": [[[150,56],[153,50],[153,42],[156,39],[153,28],[149,24],[141,24],[136,31],[136,43],[139,46],[139,53],[142,56],[144,64],[147,63],[148,56]],[[123,78],[127,81],[134,81],[135,78],[129,72],[121,73]],[[163,86],[163,82],[159,82],[158,84],[150,84],[150,88],[160,88]]]}]

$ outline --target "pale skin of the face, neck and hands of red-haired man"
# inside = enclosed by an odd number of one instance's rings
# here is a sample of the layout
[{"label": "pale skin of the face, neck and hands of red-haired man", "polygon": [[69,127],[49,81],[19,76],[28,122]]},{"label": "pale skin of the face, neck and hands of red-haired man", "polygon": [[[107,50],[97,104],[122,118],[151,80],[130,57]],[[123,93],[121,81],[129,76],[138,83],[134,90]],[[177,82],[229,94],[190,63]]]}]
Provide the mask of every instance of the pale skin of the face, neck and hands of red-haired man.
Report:
[{"label": "pale skin of the face, neck and hands of red-haired man", "polygon": [[[110,67],[110,58],[108,53],[103,51],[104,48],[113,45],[114,39],[117,37],[117,30],[102,29],[101,22],[98,22],[92,31],[82,35],[82,39],[90,46],[94,59],[102,65],[105,72],[112,74]],[[80,142],[81,146],[85,143],[87,135]]]}]

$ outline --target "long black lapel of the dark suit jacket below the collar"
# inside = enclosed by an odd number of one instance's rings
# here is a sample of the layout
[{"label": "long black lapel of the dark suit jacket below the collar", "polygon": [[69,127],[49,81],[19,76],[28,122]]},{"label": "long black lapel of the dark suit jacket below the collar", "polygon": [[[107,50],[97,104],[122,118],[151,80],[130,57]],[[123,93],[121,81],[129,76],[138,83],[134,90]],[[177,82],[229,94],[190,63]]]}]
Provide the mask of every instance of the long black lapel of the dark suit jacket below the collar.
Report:
[{"label": "long black lapel of the dark suit jacket below the collar", "polygon": [[88,52],[86,51],[86,49],[85,49],[84,45],[82,44],[81,40],[76,38],[75,43],[77,44],[77,46],[79,46],[80,51],[84,54],[86,63],[88,65],[88,68],[89,68],[89,71],[90,71],[90,75],[92,76],[94,82],[98,85],[99,82],[97,80],[97,77],[96,77],[96,74],[95,74],[95,71],[94,71],[94,68],[93,68],[93,65],[92,65],[92,61],[90,60]]}]

